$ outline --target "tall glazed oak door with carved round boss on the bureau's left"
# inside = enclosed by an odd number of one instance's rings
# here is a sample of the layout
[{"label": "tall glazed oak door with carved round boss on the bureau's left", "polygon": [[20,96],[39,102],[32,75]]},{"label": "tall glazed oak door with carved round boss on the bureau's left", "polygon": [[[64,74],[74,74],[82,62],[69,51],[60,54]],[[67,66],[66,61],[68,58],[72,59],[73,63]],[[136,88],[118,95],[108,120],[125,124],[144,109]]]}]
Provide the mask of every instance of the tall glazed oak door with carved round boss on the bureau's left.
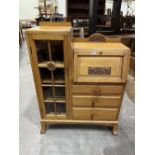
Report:
[{"label": "tall glazed oak door with carved round boss on the bureau's left", "polygon": [[68,94],[67,35],[30,35],[34,80],[44,118],[66,119]]}]

